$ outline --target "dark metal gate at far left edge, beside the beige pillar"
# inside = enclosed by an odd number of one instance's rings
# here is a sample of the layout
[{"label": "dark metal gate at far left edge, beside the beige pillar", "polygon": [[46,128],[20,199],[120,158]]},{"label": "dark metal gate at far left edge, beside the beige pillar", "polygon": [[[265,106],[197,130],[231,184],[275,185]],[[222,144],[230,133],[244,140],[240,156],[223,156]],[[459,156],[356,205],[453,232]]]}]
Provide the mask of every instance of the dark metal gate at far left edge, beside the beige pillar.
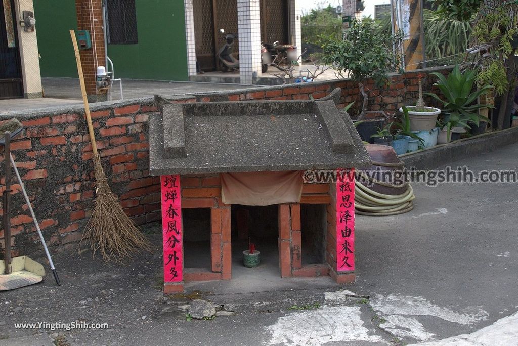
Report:
[{"label": "dark metal gate at far left edge, beside the beige pillar", "polygon": [[13,0],[0,0],[0,99],[23,97]]}]

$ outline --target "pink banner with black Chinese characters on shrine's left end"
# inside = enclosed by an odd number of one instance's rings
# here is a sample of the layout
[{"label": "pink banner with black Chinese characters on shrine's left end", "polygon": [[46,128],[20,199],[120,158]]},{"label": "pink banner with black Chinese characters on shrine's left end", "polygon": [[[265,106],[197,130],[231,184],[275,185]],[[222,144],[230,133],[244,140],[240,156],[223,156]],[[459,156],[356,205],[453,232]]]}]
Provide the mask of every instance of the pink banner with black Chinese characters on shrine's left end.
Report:
[{"label": "pink banner with black Chinese characters on shrine's left end", "polygon": [[183,281],[182,208],[180,175],[160,176],[162,234],[164,235],[164,282]]}]

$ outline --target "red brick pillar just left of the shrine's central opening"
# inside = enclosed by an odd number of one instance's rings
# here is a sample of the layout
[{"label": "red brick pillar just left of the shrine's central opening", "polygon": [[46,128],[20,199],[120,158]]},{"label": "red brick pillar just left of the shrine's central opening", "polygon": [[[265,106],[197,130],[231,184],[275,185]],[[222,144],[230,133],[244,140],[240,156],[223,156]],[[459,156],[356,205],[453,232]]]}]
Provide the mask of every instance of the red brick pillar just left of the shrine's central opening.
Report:
[{"label": "red brick pillar just left of the shrine's central opening", "polygon": [[221,272],[221,278],[232,277],[231,208],[211,209],[211,270]]}]

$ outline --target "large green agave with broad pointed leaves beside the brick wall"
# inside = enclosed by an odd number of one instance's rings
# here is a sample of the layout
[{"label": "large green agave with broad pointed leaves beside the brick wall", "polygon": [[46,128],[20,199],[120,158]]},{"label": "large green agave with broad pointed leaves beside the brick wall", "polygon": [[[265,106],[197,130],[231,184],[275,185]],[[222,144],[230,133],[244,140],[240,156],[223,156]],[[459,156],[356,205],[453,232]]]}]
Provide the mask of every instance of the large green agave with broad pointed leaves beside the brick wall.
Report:
[{"label": "large green agave with broad pointed leaves beside the brick wall", "polygon": [[438,100],[443,105],[443,112],[449,114],[452,119],[462,124],[472,121],[479,124],[479,120],[490,122],[486,117],[478,113],[480,108],[493,108],[491,105],[479,105],[477,98],[491,89],[490,85],[484,85],[476,91],[472,91],[473,84],[477,78],[476,70],[465,70],[461,73],[458,65],[453,68],[448,77],[444,77],[440,73],[432,73],[439,81],[437,85],[444,95],[445,100],[441,99],[437,94],[425,93]]}]

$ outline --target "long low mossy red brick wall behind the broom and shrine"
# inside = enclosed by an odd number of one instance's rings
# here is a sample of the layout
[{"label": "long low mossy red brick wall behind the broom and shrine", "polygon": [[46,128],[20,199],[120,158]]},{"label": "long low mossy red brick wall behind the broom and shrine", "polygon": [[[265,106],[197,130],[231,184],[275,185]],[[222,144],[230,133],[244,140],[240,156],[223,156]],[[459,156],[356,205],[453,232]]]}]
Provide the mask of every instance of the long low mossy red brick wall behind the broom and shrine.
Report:
[{"label": "long low mossy red brick wall behind the broom and shrine", "polygon": [[[447,73],[447,69],[435,69]],[[371,97],[370,109],[395,111],[412,105],[418,97],[418,74],[425,70],[391,77],[386,90],[367,88],[379,95]],[[434,90],[435,77],[426,75],[424,91]],[[342,88],[339,107],[355,100],[357,85],[351,80],[315,81],[266,88],[183,95],[174,102],[237,101],[251,99],[320,98]],[[120,197],[125,212],[138,224],[160,220],[160,184],[149,176],[148,117],[156,112],[152,98],[92,105],[92,121],[102,164],[112,191]],[[12,116],[0,116],[5,121]],[[40,227],[53,251],[74,250],[92,213],[95,179],[90,160],[92,147],[81,108],[20,114],[23,135],[12,142],[12,155],[20,170]],[[2,153],[3,154],[3,153]],[[0,172],[4,177],[4,156]],[[20,185],[12,174],[11,246],[13,256],[41,251],[32,218],[23,200]],[[5,178],[0,179],[0,193]],[[323,203],[327,203],[323,201]],[[3,217],[3,212],[0,210]],[[0,226],[1,227],[1,226]],[[4,230],[0,230],[2,248]]]}]

